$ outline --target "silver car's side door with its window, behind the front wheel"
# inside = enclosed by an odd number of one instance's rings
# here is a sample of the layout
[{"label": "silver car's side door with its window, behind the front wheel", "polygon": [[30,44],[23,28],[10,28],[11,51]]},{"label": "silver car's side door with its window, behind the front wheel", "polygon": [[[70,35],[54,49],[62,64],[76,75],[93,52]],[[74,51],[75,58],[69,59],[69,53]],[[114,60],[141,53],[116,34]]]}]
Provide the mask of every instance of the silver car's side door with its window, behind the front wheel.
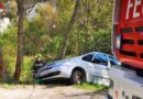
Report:
[{"label": "silver car's side door with its window, behind the front wheel", "polygon": [[109,57],[106,54],[97,53],[94,57],[92,75],[99,78],[109,78],[108,70],[110,67]]}]

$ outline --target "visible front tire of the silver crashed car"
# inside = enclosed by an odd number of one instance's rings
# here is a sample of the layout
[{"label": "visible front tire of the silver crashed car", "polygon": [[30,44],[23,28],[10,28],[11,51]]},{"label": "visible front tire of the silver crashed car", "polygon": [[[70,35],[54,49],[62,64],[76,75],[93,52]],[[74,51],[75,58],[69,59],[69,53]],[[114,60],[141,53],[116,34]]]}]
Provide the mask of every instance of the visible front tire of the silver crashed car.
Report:
[{"label": "visible front tire of the silver crashed car", "polygon": [[84,75],[80,70],[74,70],[70,77],[70,84],[81,85],[85,81]]}]

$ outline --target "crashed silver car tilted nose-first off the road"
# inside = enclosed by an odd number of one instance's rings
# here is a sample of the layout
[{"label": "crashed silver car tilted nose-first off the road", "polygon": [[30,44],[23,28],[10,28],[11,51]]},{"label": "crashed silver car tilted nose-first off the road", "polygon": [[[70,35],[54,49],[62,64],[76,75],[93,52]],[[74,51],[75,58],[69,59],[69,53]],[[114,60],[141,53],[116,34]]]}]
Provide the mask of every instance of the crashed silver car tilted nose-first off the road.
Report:
[{"label": "crashed silver car tilted nose-first off the road", "polygon": [[91,52],[77,57],[47,64],[37,70],[35,78],[41,81],[66,78],[70,79],[72,84],[77,85],[85,81],[109,85],[109,68],[120,65],[121,63],[111,55]]}]

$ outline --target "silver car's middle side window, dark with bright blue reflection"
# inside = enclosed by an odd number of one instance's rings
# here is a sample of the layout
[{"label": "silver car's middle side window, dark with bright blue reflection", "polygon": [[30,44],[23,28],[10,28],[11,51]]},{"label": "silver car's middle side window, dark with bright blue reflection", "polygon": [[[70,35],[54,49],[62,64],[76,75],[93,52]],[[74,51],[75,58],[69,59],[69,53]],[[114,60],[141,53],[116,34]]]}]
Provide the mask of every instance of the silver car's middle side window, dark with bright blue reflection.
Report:
[{"label": "silver car's middle side window, dark with bright blue reflection", "polygon": [[103,55],[103,54],[96,54],[94,58],[94,63],[108,66],[108,57],[107,55]]}]

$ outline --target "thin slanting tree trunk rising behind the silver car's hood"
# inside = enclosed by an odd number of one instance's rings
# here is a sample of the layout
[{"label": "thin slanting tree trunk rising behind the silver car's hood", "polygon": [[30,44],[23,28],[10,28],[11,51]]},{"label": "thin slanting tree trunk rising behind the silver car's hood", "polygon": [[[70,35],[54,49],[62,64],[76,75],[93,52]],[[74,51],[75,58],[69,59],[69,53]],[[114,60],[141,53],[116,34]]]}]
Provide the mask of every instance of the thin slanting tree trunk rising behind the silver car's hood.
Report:
[{"label": "thin slanting tree trunk rising behind the silver car's hood", "polygon": [[70,19],[70,23],[69,23],[69,25],[67,28],[66,36],[65,36],[65,40],[64,40],[64,45],[63,45],[62,53],[61,53],[61,58],[65,57],[68,40],[69,40],[70,33],[72,33],[72,29],[73,29],[73,25],[74,25],[74,23],[76,21],[76,16],[78,14],[79,4],[80,4],[80,0],[77,0],[76,4],[75,4],[73,16]]}]

